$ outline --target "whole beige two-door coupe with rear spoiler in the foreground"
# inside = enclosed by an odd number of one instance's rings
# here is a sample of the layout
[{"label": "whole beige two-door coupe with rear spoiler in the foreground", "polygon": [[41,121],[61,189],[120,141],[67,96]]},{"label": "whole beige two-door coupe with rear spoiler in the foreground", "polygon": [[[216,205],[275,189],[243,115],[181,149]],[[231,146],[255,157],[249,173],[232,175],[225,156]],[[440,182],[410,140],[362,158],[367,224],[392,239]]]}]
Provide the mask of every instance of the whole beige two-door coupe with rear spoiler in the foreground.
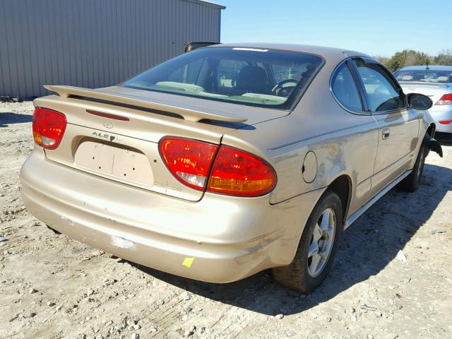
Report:
[{"label": "whole beige two-door coupe with rear spoiler in the foreground", "polygon": [[273,268],[307,293],[340,234],[419,185],[436,124],[366,54],[294,44],[194,49],[117,86],[47,86],[24,163],[28,210],[121,258],[227,283]]}]

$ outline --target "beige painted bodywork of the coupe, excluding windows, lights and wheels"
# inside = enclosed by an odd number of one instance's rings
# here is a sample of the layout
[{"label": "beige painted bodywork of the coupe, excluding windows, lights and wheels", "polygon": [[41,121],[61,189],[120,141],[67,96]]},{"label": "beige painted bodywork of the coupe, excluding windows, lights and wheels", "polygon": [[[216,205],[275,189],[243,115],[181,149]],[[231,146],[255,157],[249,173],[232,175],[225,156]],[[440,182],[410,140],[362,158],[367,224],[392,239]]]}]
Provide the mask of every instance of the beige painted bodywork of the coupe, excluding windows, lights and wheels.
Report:
[{"label": "beige painted bodywork of the coupe, excluding windows, lights and wheels", "polygon": [[[292,112],[121,87],[84,93],[138,107],[81,100],[71,97],[72,88],[65,89],[69,96],[35,100],[37,106],[64,112],[68,126],[57,149],[35,146],[23,165],[22,193],[31,213],[74,239],[122,258],[225,283],[289,264],[311,210],[336,178],[345,176],[350,181],[344,220],[348,225],[374,196],[412,169],[432,122],[428,113],[352,114],[331,94],[335,67],[347,57],[362,54],[347,52],[346,57],[340,49],[296,45],[243,46],[312,52],[321,54],[326,63]],[[61,87],[54,89],[61,92]],[[172,107],[167,111],[189,114],[189,119],[141,107]],[[97,117],[86,109],[118,114],[129,121]],[[190,121],[193,117],[217,121]],[[383,140],[386,128],[391,136]],[[163,136],[222,143],[254,153],[274,167],[278,184],[270,194],[257,198],[190,189],[162,163],[157,143]],[[102,163],[111,165],[112,157],[123,157],[126,150],[140,160],[128,162],[124,157],[124,167],[99,172],[90,157],[102,143],[119,148],[108,156],[105,153]],[[315,171],[311,154],[316,158]],[[121,173],[130,173],[132,164],[140,166],[139,172],[126,181]],[[184,265],[186,258],[194,258],[191,265]]]}]

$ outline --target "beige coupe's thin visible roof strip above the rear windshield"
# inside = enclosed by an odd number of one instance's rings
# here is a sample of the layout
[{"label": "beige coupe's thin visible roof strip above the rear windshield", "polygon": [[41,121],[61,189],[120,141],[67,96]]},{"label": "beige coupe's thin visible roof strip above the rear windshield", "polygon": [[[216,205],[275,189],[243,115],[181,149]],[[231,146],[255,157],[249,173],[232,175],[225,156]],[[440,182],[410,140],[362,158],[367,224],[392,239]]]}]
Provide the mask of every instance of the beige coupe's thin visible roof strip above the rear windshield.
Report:
[{"label": "beige coupe's thin visible roof strip above the rear windshield", "polygon": [[350,51],[345,48],[334,48],[334,47],[323,47],[323,46],[314,46],[310,44],[277,44],[277,43],[264,43],[264,42],[249,42],[249,43],[227,43],[227,44],[215,44],[213,46],[209,46],[207,48],[221,48],[221,47],[240,47],[240,48],[256,48],[256,49],[280,49],[283,51],[290,52],[304,52],[310,54],[318,54],[325,59],[329,58],[342,58],[346,57],[369,57],[369,55]]}]

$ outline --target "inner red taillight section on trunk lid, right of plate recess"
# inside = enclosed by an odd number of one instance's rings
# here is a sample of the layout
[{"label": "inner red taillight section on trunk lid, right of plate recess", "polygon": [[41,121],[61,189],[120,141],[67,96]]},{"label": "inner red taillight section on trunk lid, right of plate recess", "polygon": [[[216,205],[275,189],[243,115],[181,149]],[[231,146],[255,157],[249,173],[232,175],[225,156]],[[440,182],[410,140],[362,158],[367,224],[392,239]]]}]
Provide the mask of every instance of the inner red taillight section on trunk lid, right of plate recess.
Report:
[{"label": "inner red taillight section on trunk lid, right of plate recess", "polygon": [[218,146],[184,138],[160,141],[160,156],[179,182],[203,191]]}]

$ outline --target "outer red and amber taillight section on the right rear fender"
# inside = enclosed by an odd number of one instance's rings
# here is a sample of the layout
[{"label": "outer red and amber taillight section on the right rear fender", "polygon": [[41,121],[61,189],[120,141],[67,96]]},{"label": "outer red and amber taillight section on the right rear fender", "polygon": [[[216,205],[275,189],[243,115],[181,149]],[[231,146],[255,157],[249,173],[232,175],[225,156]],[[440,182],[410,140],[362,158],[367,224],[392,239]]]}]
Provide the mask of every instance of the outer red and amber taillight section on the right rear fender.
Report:
[{"label": "outer red and amber taillight section on the right rear fender", "polygon": [[276,185],[268,163],[254,155],[222,145],[215,158],[208,191],[234,196],[261,196]]}]

